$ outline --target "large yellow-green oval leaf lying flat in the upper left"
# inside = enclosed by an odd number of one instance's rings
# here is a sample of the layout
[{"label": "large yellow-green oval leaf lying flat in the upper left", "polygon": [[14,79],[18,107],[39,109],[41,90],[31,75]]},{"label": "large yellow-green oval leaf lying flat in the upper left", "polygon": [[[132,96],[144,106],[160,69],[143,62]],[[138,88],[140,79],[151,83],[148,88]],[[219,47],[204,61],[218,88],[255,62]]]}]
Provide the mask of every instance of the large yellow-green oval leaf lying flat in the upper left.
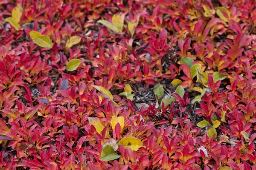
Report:
[{"label": "large yellow-green oval leaf lying flat in the upper left", "polygon": [[52,48],[52,40],[48,35],[42,35],[38,31],[30,31],[29,35],[33,42],[35,42],[35,44],[37,44],[38,46],[44,48]]}]

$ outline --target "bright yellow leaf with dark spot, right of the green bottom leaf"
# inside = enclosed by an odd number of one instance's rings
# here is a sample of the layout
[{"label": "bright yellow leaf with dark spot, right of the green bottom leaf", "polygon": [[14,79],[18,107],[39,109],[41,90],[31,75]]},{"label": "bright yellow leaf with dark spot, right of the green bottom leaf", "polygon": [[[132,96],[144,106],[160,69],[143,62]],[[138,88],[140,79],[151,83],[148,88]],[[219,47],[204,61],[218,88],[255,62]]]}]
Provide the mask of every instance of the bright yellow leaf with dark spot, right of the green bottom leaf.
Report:
[{"label": "bright yellow leaf with dark spot, right of the green bottom leaf", "polygon": [[122,138],[118,142],[118,146],[124,145],[124,147],[129,147],[131,150],[137,151],[140,147],[143,147],[143,142],[140,139],[137,139],[135,137],[125,137]]}]

